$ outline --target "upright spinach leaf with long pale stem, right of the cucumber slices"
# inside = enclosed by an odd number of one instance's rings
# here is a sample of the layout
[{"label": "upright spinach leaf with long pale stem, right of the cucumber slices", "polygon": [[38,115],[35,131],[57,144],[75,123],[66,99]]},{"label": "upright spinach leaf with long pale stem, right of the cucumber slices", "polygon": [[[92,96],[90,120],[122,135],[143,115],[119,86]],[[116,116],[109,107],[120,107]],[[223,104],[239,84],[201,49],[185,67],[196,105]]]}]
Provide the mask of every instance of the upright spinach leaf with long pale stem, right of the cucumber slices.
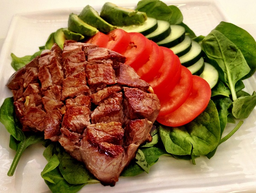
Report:
[{"label": "upright spinach leaf with long pale stem, right of the cucumber slices", "polygon": [[236,82],[250,72],[241,51],[227,37],[215,29],[202,41],[202,49],[207,57],[215,60],[223,70],[225,83],[230,88],[233,101],[236,101]]}]

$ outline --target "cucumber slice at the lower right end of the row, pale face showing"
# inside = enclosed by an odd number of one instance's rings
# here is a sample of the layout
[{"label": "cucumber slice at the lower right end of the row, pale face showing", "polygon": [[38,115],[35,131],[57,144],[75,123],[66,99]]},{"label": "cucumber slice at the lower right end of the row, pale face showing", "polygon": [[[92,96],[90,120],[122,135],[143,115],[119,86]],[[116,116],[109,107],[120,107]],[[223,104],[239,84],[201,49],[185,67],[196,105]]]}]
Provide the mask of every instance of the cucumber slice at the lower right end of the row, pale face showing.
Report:
[{"label": "cucumber slice at the lower right end of the row, pale face showing", "polygon": [[218,71],[214,66],[207,62],[205,62],[204,65],[204,71],[200,77],[204,78],[204,80],[208,82],[210,88],[212,89],[218,83]]}]

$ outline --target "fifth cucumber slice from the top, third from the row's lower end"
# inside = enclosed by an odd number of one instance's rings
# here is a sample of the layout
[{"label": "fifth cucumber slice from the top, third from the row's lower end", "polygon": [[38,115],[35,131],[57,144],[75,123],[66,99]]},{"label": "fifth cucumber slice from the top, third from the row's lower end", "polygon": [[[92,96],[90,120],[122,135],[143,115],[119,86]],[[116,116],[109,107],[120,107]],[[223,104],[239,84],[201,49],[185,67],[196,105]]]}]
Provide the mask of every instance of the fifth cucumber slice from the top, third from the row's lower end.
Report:
[{"label": "fifth cucumber slice from the top, third from the row's lower end", "polygon": [[192,40],[191,49],[188,53],[180,57],[180,63],[183,66],[191,66],[201,58],[202,48],[199,43]]}]

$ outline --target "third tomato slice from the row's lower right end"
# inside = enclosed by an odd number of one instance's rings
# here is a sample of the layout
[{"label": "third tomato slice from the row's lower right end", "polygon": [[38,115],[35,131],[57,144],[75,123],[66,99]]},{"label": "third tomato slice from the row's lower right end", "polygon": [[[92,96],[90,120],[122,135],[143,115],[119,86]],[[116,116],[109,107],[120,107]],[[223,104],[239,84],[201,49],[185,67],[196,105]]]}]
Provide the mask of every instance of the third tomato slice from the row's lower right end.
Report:
[{"label": "third tomato slice from the row's lower right end", "polygon": [[[165,90],[172,84],[173,77],[176,74],[177,65],[180,65],[180,61],[175,62],[175,54],[169,48],[162,47],[163,49],[163,64],[159,69],[157,76],[152,77],[148,83],[154,89],[155,94],[166,94]],[[177,61],[177,60],[176,60]]]}]

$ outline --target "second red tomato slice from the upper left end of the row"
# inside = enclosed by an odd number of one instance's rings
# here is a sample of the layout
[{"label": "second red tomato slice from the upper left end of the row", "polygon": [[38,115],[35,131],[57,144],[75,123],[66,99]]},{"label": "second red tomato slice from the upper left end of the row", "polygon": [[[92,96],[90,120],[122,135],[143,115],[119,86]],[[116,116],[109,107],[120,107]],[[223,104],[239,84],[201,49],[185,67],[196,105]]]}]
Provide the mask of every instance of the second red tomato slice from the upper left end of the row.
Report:
[{"label": "second red tomato slice from the upper left end of the row", "polygon": [[130,35],[123,29],[115,29],[108,34],[109,40],[106,48],[122,54],[130,43]]}]

